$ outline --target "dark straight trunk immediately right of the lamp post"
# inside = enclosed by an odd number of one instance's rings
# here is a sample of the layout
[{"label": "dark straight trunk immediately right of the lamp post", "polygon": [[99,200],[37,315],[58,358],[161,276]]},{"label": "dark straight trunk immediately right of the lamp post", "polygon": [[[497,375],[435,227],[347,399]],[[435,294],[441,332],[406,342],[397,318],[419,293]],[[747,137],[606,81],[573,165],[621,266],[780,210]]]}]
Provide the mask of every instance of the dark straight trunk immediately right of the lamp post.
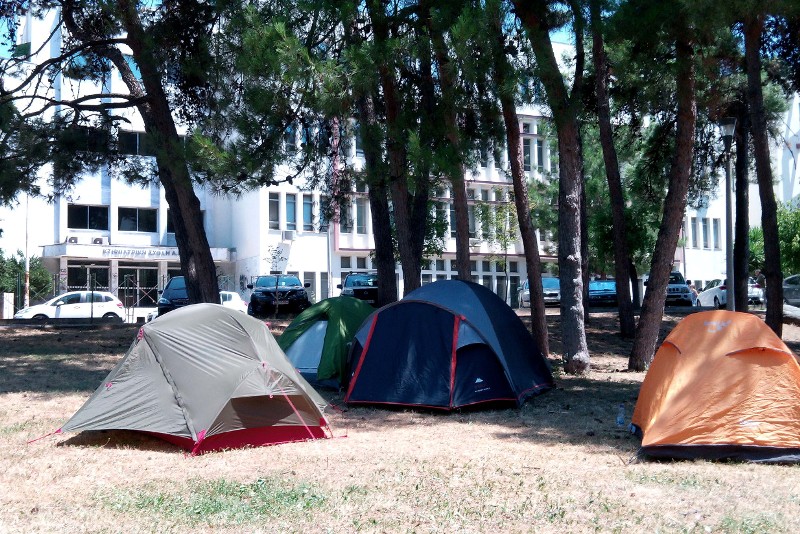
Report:
[{"label": "dark straight trunk immediately right of the lamp post", "polygon": [[733,280],[736,310],[747,311],[748,278],[750,276],[750,181],[748,161],[750,126],[746,106],[736,113],[736,233],[733,242]]}]

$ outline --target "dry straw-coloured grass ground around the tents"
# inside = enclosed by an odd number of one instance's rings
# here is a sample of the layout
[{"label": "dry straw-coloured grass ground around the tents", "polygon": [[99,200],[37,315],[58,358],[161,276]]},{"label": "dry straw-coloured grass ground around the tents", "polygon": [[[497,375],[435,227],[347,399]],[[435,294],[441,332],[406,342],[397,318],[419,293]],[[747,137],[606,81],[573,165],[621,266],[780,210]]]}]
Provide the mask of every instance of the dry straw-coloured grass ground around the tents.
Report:
[{"label": "dry straw-coloured grass ground around the tents", "polygon": [[[523,318],[525,319],[525,318]],[[666,334],[680,315],[665,317]],[[273,324],[279,333],[284,322]],[[137,327],[0,328],[0,532],[797,532],[800,468],[642,462],[643,373],[613,314],[592,314],[592,371],[521,409],[347,409],[335,439],[189,457],[145,435],[53,435]],[[557,315],[548,316],[558,354]],[[796,353],[800,328],[786,325]]]}]

